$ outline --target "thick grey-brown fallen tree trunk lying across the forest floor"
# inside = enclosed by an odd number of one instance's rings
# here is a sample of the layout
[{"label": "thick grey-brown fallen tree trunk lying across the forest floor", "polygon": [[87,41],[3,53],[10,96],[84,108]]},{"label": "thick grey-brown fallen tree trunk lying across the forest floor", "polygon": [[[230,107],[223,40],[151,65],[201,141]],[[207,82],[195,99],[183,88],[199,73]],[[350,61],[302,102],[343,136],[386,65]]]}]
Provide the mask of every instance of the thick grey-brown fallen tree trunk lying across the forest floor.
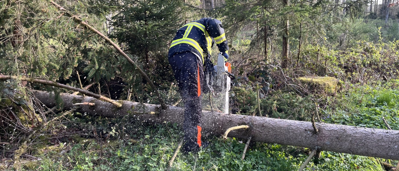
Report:
[{"label": "thick grey-brown fallen tree trunk lying across the forest floor", "polygon": [[[49,92],[34,90],[38,98],[47,107],[54,106],[54,100],[49,98]],[[150,123],[173,122],[183,123],[184,109],[170,106],[160,110],[159,105],[140,104],[123,101],[122,107],[97,100],[89,96],[61,94],[64,110],[75,108],[74,103],[92,102],[95,106],[83,106],[77,111],[90,115],[116,118],[130,114],[132,117]],[[148,114],[159,112],[159,115]],[[202,111],[202,127],[204,133],[223,134],[228,128],[239,125],[249,125],[248,129],[240,129],[229,133],[229,137],[248,139],[265,143],[279,143],[314,149],[334,151],[354,155],[364,155],[385,159],[399,160],[399,131],[360,128],[336,124],[316,123],[319,133],[314,134],[311,122],[274,119],[258,116],[223,114],[219,112]]]}]

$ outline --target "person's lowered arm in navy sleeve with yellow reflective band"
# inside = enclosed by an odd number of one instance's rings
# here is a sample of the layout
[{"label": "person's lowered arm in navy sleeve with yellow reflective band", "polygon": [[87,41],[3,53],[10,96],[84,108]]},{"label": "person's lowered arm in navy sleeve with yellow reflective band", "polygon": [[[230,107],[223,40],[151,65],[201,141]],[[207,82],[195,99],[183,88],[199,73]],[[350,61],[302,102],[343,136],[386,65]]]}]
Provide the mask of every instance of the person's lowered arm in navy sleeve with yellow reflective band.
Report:
[{"label": "person's lowered arm in navy sleeve with yellow reflective band", "polygon": [[225,32],[223,29],[223,25],[219,20],[214,18],[207,18],[205,20],[206,23],[206,31],[208,31],[209,35],[213,37],[219,51],[223,53],[225,58],[229,58],[228,50],[229,46],[227,44]]}]

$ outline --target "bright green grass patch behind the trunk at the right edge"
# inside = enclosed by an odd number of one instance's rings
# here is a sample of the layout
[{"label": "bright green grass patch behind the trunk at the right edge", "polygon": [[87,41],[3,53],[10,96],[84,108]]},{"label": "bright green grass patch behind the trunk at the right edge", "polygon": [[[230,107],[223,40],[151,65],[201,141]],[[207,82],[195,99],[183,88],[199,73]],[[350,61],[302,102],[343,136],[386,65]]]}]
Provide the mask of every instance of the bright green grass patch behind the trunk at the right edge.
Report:
[{"label": "bright green grass patch behind the trunk at the right edge", "polygon": [[324,110],[324,121],[334,124],[387,129],[382,117],[385,117],[393,130],[399,130],[399,81],[377,86],[351,85],[352,88],[330,103],[336,103],[334,109]]}]

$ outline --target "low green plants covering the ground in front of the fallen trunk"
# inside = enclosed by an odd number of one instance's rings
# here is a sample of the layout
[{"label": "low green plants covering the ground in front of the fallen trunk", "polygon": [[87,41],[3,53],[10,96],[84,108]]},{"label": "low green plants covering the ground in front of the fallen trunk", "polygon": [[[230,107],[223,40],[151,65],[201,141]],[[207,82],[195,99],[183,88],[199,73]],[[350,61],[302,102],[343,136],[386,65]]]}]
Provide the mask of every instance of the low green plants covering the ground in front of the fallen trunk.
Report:
[{"label": "low green plants covering the ground in front of the fallen trunk", "polygon": [[[142,129],[120,140],[99,145],[97,142],[66,144],[71,147],[63,155],[49,152],[41,155],[43,171],[163,171],[168,169],[180,138],[181,128],[176,124],[143,126]],[[128,138],[138,140],[130,143]],[[236,138],[210,139],[211,146],[198,153],[179,153],[172,171],[295,171],[308,156],[309,150],[298,147],[255,143],[241,160],[245,142]],[[343,162],[345,161],[345,162]],[[371,157],[322,152],[316,164],[313,160],[306,171],[382,171],[381,166]],[[70,164],[69,164],[70,163]]]}]

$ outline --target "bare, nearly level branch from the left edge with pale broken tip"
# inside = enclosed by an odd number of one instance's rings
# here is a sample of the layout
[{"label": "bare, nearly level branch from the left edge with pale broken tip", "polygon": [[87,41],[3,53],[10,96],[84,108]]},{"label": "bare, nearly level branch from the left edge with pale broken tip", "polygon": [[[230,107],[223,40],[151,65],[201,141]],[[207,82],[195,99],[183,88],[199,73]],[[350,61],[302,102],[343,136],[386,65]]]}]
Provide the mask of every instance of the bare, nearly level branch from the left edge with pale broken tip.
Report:
[{"label": "bare, nearly level branch from the left edge with pale broken tip", "polygon": [[42,80],[42,79],[33,79],[33,78],[27,78],[27,77],[18,78],[16,76],[10,76],[10,75],[0,75],[0,80],[8,80],[8,79],[12,79],[12,80],[20,79],[22,81],[29,81],[29,82],[32,82],[32,83],[40,83],[40,84],[45,84],[45,85],[51,85],[51,86],[56,86],[56,87],[60,87],[60,88],[65,88],[65,89],[68,89],[68,90],[73,90],[73,91],[80,92],[82,94],[97,98],[99,100],[104,100],[106,102],[110,102],[110,103],[112,103],[113,105],[115,105],[117,107],[121,107],[122,106],[121,103],[116,102],[115,100],[112,100],[110,98],[101,96],[99,94],[94,94],[94,93],[89,92],[87,90],[82,90],[80,88],[76,88],[76,87],[73,87],[73,86],[63,85],[63,84],[57,83],[55,81]]}]

